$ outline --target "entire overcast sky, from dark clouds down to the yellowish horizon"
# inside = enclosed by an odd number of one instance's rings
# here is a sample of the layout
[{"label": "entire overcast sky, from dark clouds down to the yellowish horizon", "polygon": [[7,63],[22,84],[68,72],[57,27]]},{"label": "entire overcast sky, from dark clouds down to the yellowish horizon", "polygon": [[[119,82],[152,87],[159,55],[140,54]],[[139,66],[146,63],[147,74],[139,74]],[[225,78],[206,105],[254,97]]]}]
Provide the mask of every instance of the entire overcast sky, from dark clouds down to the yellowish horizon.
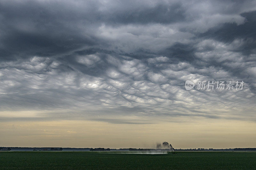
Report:
[{"label": "entire overcast sky, from dark clouds down to the yellowish horizon", "polygon": [[2,0],[0,23],[0,145],[256,147],[256,1]]}]

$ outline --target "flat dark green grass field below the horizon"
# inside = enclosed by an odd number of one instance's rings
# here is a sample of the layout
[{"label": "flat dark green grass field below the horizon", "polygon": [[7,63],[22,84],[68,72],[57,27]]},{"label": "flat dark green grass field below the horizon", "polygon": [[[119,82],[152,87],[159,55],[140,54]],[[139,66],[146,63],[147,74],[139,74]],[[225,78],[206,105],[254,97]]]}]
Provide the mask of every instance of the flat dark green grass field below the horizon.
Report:
[{"label": "flat dark green grass field below the horizon", "polygon": [[256,169],[256,152],[0,152],[0,169]]}]

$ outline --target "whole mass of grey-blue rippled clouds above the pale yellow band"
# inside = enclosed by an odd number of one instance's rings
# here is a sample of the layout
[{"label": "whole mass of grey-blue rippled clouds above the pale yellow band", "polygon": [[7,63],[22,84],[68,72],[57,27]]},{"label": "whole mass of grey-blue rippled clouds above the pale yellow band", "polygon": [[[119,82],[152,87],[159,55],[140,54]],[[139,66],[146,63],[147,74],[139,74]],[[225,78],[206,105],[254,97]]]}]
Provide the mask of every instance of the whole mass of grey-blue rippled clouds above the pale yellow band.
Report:
[{"label": "whole mass of grey-blue rippled clouds above the pale yellow band", "polygon": [[[255,120],[255,7],[255,1],[1,1],[0,109],[64,110],[30,118],[41,121]],[[187,91],[186,80],[245,85]]]}]

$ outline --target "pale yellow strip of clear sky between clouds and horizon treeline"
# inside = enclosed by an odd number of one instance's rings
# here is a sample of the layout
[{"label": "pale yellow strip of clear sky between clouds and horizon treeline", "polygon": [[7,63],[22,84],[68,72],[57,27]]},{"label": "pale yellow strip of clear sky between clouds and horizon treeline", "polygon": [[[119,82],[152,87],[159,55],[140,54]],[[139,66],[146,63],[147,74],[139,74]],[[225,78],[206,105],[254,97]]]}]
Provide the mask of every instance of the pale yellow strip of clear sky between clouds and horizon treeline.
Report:
[{"label": "pale yellow strip of clear sky between clouds and horizon treeline", "polygon": [[206,118],[190,118],[186,123],[156,124],[111,124],[85,120],[9,121],[0,123],[0,145],[154,148],[157,142],[168,141],[174,148],[255,147],[255,129],[255,122]]}]

